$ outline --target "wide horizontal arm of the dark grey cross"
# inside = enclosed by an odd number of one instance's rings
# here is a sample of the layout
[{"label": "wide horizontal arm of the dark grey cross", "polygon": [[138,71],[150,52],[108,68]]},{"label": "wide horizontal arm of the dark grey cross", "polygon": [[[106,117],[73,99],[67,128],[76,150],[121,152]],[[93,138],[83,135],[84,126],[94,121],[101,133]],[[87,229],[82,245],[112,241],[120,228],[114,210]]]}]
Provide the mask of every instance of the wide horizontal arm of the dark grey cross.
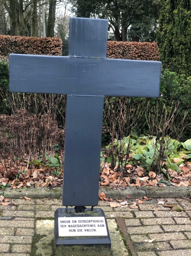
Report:
[{"label": "wide horizontal arm of the dark grey cross", "polygon": [[10,91],[159,97],[161,62],[10,55]]}]

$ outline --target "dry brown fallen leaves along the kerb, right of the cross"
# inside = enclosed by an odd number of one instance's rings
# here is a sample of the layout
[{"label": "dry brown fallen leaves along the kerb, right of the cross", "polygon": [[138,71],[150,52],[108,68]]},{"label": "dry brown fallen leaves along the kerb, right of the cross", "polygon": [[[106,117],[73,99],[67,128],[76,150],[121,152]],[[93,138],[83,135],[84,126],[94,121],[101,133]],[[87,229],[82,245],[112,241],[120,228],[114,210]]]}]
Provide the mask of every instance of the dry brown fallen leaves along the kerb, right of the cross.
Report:
[{"label": "dry brown fallen leaves along the kerb, right of the cross", "polygon": [[[176,159],[175,159],[176,160]],[[179,159],[180,160],[180,159]],[[169,180],[170,184],[173,186],[183,186],[187,187],[191,185],[191,163],[187,162],[187,165],[180,165],[180,170],[182,172],[176,172],[172,169],[168,169],[167,173],[172,178]],[[102,182],[101,186],[110,186],[115,189],[125,189],[127,186],[131,187],[144,187],[144,186],[157,186],[157,182],[160,182],[161,178],[168,180],[163,175],[157,175],[155,172],[149,171],[145,175],[146,169],[140,166],[133,167],[133,165],[127,164],[126,170],[120,172],[118,166],[115,166],[113,170],[110,168],[109,164],[102,163],[104,168],[100,175]],[[123,168],[124,169],[124,168]],[[166,183],[158,185],[159,187],[167,186]]]}]

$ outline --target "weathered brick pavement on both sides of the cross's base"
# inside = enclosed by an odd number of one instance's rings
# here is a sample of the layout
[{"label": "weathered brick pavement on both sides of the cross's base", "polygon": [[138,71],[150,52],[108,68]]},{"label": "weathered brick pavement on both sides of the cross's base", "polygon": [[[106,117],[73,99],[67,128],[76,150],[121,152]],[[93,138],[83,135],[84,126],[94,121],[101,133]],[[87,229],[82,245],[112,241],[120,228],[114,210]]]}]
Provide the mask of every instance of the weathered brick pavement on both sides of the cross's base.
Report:
[{"label": "weathered brick pavement on both sides of the cross's base", "polygon": [[[132,201],[129,200],[129,204]],[[130,248],[131,251],[124,255],[191,255],[191,201],[163,201],[172,204],[173,208],[158,205],[157,200],[145,201],[138,209],[111,208],[107,202],[99,201],[108,219],[122,218],[125,223],[126,230],[121,231],[124,237],[126,234],[129,248],[132,244],[134,249]],[[63,207],[62,202],[57,199],[10,199],[10,203],[0,205],[0,256],[35,256],[36,221],[52,220],[54,211]]]}]

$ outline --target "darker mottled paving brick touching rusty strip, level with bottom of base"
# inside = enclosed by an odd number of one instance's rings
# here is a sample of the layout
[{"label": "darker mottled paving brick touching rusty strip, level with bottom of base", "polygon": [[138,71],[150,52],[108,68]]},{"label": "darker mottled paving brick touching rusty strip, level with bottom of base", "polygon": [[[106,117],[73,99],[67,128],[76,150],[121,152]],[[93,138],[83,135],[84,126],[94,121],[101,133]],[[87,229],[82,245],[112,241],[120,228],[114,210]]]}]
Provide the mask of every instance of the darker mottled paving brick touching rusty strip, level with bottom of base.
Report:
[{"label": "darker mottled paving brick touching rusty strip, level with bottom of base", "polygon": [[159,250],[172,250],[171,246],[168,244],[168,242],[155,242],[147,243],[133,243],[134,249],[136,251],[159,251]]}]

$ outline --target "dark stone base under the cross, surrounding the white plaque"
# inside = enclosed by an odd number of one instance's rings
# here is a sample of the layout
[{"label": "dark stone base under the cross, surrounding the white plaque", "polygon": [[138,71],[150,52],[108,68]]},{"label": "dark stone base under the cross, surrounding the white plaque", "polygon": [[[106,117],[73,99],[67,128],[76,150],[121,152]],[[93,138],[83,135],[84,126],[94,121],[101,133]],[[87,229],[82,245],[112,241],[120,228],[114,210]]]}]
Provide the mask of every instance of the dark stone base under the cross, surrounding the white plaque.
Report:
[{"label": "dark stone base under the cross, surrounding the white plaque", "polygon": [[59,237],[58,236],[58,217],[100,217],[104,212],[100,208],[94,211],[86,209],[84,213],[76,213],[74,208],[68,209],[65,213],[64,208],[58,208],[55,211],[55,256],[109,256],[111,255],[111,240],[105,218],[107,236],[106,237]]}]

